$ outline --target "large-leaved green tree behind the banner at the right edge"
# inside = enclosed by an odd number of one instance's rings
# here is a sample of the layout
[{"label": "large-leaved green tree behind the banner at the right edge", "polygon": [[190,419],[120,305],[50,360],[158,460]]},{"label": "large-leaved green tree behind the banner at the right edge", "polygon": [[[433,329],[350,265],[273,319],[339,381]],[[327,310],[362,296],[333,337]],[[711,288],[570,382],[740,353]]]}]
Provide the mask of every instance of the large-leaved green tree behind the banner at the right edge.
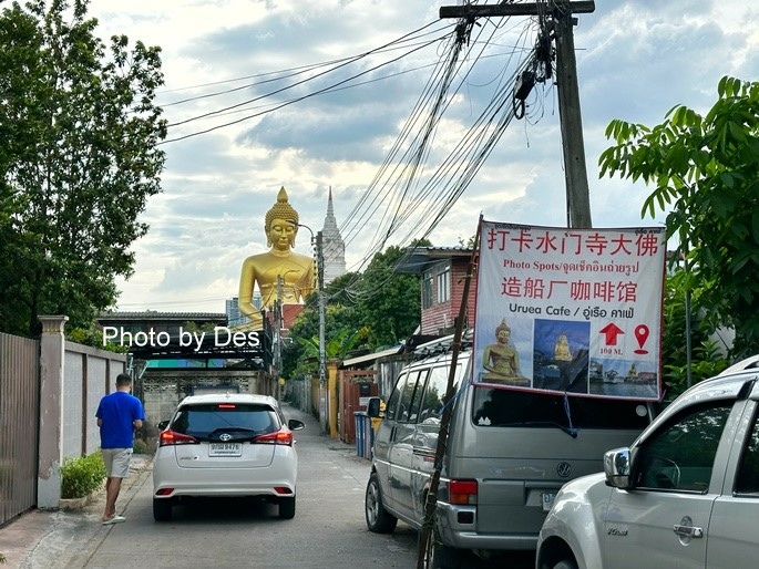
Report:
[{"label": "large-leaved green tree behind the banner at the right edge", "polygon": [[680,105],[654,127],[613,121],[599,165],[655,186],[643,216],[667,213],[705,324],[735,327],[739,358],[759,352],[759,82],[725,76],[717,94],[706,115]]}]

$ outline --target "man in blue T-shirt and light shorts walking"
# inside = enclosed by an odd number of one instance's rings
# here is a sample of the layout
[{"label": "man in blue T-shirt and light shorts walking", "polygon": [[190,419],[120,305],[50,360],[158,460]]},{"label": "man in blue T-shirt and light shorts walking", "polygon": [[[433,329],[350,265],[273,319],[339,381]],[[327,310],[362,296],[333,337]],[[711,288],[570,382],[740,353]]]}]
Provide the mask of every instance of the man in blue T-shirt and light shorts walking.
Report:
[{"label": "man in blue T-shirt and light shorts walking", "polygon": [[142,427],[145,412],[140,400],[132,395],[132,377],[120,373],[116,377],[116,391],[105,395],[98,405],[98,426],[100,427],[100,447],[105,463],[105,510],[103,525],[124,521],[116,515],[116,498],[121,480],[130,472],[134,430]]}]

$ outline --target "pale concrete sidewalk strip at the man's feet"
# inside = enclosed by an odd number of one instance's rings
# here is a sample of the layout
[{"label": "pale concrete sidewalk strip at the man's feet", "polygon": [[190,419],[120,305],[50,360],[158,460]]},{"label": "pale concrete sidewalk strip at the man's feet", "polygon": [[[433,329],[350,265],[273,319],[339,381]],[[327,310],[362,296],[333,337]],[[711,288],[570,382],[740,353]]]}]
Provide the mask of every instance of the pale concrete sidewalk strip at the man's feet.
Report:
[{"label": "pale concrete sidewalk strip at the man's feet", "polygon": [[[116,504],[129,516],[132,497],[151,475],[152,456],[133,455],[130,475],[124,478]],[[0,554],[9,569],[51,569],[66,567],[81,550],[82,542],[107,535],[113,526],[103,526],[105,489],[98,493],[81,510],[39,510],[22,514],[0,528]]]}]

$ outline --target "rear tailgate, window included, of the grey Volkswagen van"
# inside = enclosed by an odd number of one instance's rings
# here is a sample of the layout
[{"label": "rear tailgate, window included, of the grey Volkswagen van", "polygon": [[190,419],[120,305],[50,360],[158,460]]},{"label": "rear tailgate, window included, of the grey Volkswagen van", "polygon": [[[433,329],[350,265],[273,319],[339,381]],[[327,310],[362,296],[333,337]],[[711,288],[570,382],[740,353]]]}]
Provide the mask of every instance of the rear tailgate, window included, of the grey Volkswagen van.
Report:
[{"label": "rear tailgate, window included, of the grey Volkswagen van", "polygon": [[478,480],[479,534],[534,534],[558,488],[603,470],[604,452],[633,443],[650,422],[646,403],[471,390],[450,446],[450,477]]}]

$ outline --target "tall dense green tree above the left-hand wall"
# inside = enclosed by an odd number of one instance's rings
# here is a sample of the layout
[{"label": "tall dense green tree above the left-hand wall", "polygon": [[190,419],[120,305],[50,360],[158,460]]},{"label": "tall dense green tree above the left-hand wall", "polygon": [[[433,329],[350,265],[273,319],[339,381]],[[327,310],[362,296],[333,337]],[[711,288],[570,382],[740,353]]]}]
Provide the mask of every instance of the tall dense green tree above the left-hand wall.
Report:
[{"label": "tall dense green tree above the left-hand wall", "polygon": [[41,313],[88,328],[133,272],[137,221],[157,194],[166,136],[153,105],[158,48],[110,51],[86,0],[0,12],[0,330],[35,334]]}]

